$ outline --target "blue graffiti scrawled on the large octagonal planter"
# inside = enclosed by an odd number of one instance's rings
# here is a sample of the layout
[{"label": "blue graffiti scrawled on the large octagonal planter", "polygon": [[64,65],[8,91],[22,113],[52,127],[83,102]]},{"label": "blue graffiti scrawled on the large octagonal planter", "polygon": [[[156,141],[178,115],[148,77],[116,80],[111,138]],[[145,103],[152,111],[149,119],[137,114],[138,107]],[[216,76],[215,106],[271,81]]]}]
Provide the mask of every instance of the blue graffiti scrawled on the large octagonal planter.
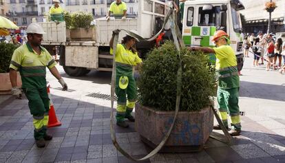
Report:
[{"label": "blue graffiti scrawled on the large octagonal planter", "polygon": [[[166,134],[169,130],[173,118],[169,118],[165,123],[164,133]],[[197,123],[191,123],[189,120],[177,119],[171,132],[171,138],[176,145],[179,144],[192,144],[199,145],[202,141],[202,133],[200,126]]]}]

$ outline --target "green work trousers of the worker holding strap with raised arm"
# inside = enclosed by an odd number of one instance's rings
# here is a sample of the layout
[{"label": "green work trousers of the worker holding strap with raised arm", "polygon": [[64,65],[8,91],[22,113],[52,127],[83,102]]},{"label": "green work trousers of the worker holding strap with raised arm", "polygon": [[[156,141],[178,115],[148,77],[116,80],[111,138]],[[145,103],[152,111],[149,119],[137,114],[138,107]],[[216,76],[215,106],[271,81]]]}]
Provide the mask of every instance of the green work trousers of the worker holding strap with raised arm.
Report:
[{"label": "green work trousers of the worker holding strap with raised arm", "polygon": [[123,122],[125,118],[131,116],[136,102],[136,81],[133,75],[128,75],[129,84],[126,89],[120,89],[120,76],[116,76],[116,96],[118,96],[116,120]]}]

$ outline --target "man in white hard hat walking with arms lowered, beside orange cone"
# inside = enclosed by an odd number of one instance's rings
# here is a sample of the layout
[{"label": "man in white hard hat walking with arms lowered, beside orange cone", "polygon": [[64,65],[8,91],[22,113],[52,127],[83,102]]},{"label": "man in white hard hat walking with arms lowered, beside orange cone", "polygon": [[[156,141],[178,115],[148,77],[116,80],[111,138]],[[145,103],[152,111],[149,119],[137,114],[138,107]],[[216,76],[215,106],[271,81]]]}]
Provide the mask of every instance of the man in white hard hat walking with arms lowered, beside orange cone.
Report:
[{"label": "man in white hard hat walking with arms lowered, beside orange cone", "polygon": [[50,99],[47,96],[45,67],[50,69],[52,75],[59,80],[63,90],[67,90],[67,84],[55,67],[56,62],[41,46],[44,33],[41,25],[31,23],[27,28],[28,42],[14,51],[10,63],[12,95],[21,98],[21,89],[17,87],[17,71],[19,71],[22,89],[29,100],[30,113],[33,116],[34,139],[39,148],[45,146],[45,140],[52,140],[52,136],[46,133]]}]

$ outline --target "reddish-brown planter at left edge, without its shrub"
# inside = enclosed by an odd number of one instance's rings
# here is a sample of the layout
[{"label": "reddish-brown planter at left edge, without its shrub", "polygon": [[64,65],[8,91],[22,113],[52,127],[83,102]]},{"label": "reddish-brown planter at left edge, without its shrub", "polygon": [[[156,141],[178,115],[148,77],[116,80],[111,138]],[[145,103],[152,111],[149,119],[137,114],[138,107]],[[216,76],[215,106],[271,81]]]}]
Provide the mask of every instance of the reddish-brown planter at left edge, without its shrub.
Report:
[{"label": "reddish-brown planter at left edge, without its shrub", "polygon": [[[17,86],[22,86],[21,75],[17,72]],[[11,94],[12,85],[9,73],[0,73],[0,94]]]}]

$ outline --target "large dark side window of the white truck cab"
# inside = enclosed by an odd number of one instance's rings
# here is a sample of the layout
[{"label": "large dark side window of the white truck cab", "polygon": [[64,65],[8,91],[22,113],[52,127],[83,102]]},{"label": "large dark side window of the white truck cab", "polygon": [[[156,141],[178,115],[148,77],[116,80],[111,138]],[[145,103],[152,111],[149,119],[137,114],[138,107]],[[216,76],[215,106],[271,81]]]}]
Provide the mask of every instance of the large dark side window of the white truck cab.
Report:
[{"label": "large dark side window of the white truck cab", "polygon": [[198,15],[199,26],[215,26],[220,27],[220,6],[214,6],[212,10],[202,10],[199,8]]}]

